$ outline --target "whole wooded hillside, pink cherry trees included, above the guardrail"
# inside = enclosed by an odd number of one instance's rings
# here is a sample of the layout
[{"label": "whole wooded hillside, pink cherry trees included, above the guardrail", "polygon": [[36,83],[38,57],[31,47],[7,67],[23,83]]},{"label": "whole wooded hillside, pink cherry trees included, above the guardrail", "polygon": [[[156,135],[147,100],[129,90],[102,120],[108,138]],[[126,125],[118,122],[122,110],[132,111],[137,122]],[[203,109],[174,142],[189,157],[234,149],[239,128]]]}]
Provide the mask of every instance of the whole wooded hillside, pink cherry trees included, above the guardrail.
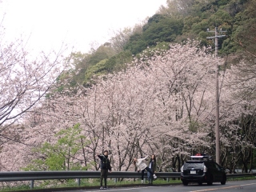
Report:
[{"label": "whole wooded hillside, pink cherry trees included, above the guardrail", "polygon": [[[147,22],[71,54],[54,83],[38,82],[41,62],[30,74],[21,65],[13,82],[3,67],[10,84],[0,85],[2,95],[10,85],[19,94],[1,100],[1,170],[98,170],[96,154],[109,150],[113,170],[134,170],[134,157],[155,154],[159,169],[180,171],[191,154],[214,155],[217,62],[221,165],[255,169],[255,10],[256,0],[168,0]],[[214,27],[227,31],[218,58],[206,39]],[[25,60],[11,55],[1,61]],[[8,116],[15,99],[25,109],[18,120]]]}]

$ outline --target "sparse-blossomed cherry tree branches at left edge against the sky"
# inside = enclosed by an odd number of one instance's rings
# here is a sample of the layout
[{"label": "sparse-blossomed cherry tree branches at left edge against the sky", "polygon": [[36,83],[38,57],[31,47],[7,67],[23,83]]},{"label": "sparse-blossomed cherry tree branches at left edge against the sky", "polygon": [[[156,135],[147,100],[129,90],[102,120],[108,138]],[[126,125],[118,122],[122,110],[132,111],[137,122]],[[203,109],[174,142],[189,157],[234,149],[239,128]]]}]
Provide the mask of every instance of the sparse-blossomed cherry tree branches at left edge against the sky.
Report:
[{"label": "sparse-blossomed cherry tree branches at left edge against the sky", "polygon": [[[2,1],[0,1],[1,3]],[[3,17],[4,18],[4,17]],[[66,70],[62,46],[58,52],[34,55],[26,47],[24,39],[5,39],[5,28],[0,23],[0,149],[1,155],[16,153],[22,144],[24,117],[46,97],[58,76]],[[25,136],[26,137],[26,136]],[[8,152],[4,145],[13,146]],[[29,145],[29,144],[28,144]],[[16,151],[17,150],[17,151]],[[15,152],[14,152],[15,151]],[[6,164],[10,160],[6,159]],[[20,159],[15,159],[14,162]],[[15,163],[14,163],[15,164]],[[1,166],[1,164],[0,164]],[[14,169],[15,166],[10,165]],[[2,170],[2,167],[0,167]]]}]

